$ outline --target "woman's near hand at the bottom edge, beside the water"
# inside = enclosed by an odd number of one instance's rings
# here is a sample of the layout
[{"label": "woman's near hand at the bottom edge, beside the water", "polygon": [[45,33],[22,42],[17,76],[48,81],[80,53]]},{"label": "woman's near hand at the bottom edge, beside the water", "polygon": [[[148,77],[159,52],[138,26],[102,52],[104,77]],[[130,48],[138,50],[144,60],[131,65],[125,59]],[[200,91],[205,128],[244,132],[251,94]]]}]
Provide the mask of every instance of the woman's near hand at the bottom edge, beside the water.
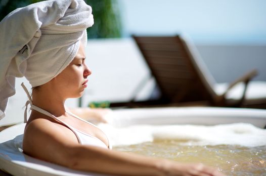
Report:
[{"label": "woman's near hand at the bottom edge, beside the water", "polygon": [[217,169],[206,166],[202,163],[180,163],[169,160],[163,160],[161,169],[165,174],[163,175],[186,175],[186,176],[225,176]]}]

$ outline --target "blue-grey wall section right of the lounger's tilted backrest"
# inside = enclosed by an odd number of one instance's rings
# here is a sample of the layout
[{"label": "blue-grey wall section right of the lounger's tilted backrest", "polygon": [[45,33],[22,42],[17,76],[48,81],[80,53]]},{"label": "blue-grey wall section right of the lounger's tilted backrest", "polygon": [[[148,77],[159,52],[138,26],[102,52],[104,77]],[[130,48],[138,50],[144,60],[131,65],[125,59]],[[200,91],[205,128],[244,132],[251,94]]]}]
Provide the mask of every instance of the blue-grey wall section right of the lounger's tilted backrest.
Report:
[{"label": "blue-grey wall section right of the lounger's tilted backrest", "polygon": [[257,69],[252,80],[266,81],[266,45],[202,45],[197,48],[217,82],[232,82]]}]

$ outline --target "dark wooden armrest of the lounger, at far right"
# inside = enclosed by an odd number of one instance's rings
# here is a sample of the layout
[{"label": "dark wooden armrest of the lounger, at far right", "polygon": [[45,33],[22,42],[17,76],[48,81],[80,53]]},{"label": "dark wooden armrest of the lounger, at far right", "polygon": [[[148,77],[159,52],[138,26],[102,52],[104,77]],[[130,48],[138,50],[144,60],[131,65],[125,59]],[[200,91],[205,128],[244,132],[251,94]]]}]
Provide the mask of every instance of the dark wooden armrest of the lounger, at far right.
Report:
[{"label": "dark wooden armrest of the lounger, at far right", "polygon": [[238,105],[241,105],[242,102],[245,99],[245,94],[246,94],[246,90],[247,90],[247,85],[249,83],[249,81],[258,74],[258,71],[256,69],[253,69],[249,72],[247,72],[246,74],[244,74],[243,76],[241,76],[240,78],[236,79],[235,81],[233,81],[232,83],[230,83],[230,85],[228,86],[227,90],[225,91],[224,94],[220,95],[217,97],[216,99],[216,103],[221,104],[221,102],[224,102],[226,99],[226,95],[227,93],[239,82],[244,82],[244,91],[242,93],[242,97],[240,98]]}]

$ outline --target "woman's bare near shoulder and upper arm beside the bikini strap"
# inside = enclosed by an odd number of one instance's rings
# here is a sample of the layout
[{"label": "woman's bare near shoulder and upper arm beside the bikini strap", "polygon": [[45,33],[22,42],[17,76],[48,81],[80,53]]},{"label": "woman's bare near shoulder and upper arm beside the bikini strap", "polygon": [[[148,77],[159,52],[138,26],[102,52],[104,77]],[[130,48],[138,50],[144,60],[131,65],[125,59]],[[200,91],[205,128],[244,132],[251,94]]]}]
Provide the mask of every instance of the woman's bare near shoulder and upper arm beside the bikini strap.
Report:
[{"label": "woman's bare near shoulder and upper arm beside the bikini strap", "polygon": [[45,118],[28,122],[23,137],[23,152],[32,157],[64,163],[71,149],[79,145],[74,133],[68,128]]}]

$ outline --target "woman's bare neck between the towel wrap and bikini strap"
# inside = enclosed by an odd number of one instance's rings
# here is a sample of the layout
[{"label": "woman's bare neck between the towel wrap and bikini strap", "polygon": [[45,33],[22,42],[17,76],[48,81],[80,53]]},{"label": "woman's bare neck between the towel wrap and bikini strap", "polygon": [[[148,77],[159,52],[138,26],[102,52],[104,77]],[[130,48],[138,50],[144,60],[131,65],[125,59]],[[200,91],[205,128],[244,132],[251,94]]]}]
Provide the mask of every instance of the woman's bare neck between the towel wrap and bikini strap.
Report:
[{"label": "woman's bare neck between the towel wrap and bikini strap", "polygon": [[32,91],[32,104],[56,117],[66,114],[64,103],[65,99],[49,87],[38,87]]}]

